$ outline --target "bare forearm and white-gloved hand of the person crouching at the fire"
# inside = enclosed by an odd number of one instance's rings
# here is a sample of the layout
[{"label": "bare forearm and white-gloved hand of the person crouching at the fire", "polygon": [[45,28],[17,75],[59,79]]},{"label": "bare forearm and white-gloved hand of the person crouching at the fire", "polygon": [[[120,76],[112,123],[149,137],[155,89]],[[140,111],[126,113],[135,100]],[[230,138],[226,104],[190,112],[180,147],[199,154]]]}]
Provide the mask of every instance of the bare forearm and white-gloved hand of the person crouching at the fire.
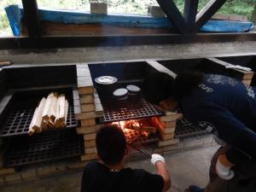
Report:
[{"label": "bare forearm and white-gloved hand of the person crouching at the fire", "polygon": [[164,179],[163,192],[171,188],[171,177],[167,170],[165,159],[160,154],[152,154],[152,164],[155,166],[157,174]]}]

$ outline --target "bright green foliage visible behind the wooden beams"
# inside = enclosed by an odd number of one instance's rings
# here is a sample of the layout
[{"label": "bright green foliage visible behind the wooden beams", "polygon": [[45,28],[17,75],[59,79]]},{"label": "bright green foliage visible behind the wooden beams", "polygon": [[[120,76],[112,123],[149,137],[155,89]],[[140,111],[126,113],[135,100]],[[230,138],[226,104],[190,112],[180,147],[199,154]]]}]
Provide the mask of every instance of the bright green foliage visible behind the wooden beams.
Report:
[{"label": "bright green foliage visible behind the wooden beams", "polygon": [[[108,3],[108,13],[113,14],[147,15],[147,5],[157,4],[156,0],[38,0],[38,6],[52,9],[79,9],[81,11],[89,11],[90,1]],[[183,12],[184,0],[173,1],[176,3],[177,8]],[[199,9],[202,9],[208,1],[200,0]],[[227,0],[224,6],[218,10],[218,13],[245,15],[249,20],[253,20],[255,2],[256,0]],[[6,34],[11,35],[9,20],[4,8],[14,3],[21,4],[21,0],[0,0],[0,37]]]}]

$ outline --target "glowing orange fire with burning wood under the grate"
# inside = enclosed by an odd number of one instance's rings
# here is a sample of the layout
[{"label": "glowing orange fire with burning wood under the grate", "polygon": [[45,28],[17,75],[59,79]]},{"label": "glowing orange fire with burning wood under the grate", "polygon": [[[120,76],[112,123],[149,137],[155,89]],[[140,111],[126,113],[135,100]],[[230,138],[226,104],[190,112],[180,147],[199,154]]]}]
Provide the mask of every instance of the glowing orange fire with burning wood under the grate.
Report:
[{"label": "glowing orange fire with burning wood under the grate", "polygon": [[124,131],[127,143],[132,143],[138,137],[148,137],[150,132],[156,131],[156,127],[151,126],[148,119],[115,121],[112,125],[117,125]]}]

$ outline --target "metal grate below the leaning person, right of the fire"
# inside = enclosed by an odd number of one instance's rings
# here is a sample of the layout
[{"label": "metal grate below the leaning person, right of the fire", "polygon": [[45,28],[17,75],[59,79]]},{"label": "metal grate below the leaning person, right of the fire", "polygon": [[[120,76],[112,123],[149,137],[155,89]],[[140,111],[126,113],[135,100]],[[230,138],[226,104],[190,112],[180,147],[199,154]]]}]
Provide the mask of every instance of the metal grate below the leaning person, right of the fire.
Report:
[{"label": "metal grate below the leaning person, right of the fire", "polygon": [[201,130],[198,126],[193,125],[188,119],[177,120],[175,137],[192,137],[208,133],[208,131]]}]

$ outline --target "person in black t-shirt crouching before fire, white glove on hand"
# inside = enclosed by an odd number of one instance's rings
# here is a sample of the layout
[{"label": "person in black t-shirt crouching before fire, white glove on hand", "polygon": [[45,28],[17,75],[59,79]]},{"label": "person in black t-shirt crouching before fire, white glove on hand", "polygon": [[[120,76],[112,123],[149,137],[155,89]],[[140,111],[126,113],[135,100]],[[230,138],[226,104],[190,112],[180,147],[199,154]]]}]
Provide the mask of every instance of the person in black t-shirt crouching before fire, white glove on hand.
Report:
[{"label": "person in black t-shirt crouching before fire, white glove on hand", "polygon": [[96,134],[96,154],[84,168],[81,192],[161,192],[170,189],[171,178],[165,159],[152,154],[157,174],[125,167],[128,154],[124,132],[117,126],[104,126]]}]

